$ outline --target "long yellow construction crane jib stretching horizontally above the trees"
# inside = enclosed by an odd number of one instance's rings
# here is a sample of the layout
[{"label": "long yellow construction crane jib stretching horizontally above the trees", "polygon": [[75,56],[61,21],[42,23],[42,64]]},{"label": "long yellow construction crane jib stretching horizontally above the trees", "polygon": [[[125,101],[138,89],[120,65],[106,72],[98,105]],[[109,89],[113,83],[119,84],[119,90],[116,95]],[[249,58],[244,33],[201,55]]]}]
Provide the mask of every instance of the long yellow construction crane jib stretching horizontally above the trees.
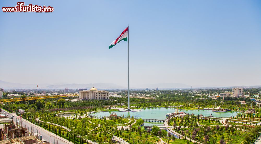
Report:
[{"label": "long yellow construction crane jib stretching horizontally above the trees", "polygon": [[34,97],[23,97],[23,98],[15,98],[15,99],[3,99],[3,100],[0,100],[0,102],[15,102],[15,101],[38,100],[38,99],[50,99],[50,98],[68,97],[68,96],[79,96],[79,95],[34,96]]}]

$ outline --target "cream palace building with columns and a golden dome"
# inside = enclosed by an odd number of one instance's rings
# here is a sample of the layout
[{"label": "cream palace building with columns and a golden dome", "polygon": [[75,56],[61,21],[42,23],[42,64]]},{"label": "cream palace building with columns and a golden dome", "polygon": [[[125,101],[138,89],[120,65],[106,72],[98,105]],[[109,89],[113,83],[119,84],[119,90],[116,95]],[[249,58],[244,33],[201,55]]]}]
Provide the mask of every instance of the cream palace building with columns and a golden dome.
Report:
[{"label": "cream palace building with columns and a golden dome", "polygon": [[90,90],[79,91],[80,98],[82,100],[108,100],[109,91],[98,90],[96,88],[91,88]]}]

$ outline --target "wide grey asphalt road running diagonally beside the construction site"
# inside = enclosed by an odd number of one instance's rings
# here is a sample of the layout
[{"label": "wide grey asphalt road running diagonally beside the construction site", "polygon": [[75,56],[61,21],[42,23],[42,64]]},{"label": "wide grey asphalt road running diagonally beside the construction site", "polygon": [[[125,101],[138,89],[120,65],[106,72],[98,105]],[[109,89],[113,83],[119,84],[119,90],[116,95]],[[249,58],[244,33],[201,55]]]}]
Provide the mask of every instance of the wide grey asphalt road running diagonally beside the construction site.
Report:
[{"label": "wide grey asphalt road running diagonally beside the construction site", "polygon": [[[42,135],[42,139],[44,139],[45,141],[48,141],[52,144],[73,144],[73,142],[69,142],[68,140],[65,140],[63,138],[61,138],[60,136],[57,136],[55,134],[52,134],[52,132],[49,132],[48,130],[45,130],[25,119],[21,119],[19,120],[19,122],[17,122],[17,118],[18,116],[16,115],[16,113],[9,113],[7,111],[5,111],[4,109],[2,109],[3,113],[5,112],[6,114],[8,114],[8,117],[10,118],[11,116],[14,116],[13,120],[14,123],[17,125],[22,125],[23,127],[26,127],[27,130],[29,130],[29,133],[40,133]],[[54,142],[55,141],[55,142]]]}]

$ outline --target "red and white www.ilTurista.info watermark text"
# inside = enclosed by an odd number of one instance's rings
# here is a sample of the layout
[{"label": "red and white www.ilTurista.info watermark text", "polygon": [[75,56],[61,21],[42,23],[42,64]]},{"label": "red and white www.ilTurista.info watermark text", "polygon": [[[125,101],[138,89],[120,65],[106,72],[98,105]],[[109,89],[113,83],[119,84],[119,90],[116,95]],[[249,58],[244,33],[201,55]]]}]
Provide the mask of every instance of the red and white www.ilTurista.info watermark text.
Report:
[{"label": "red and white www.ilTurista.info watermark text", "polygon": [[25,5],[24,2],[17,2],[15,7],[2,7],[3,12],[53,12],[51,6]]}]

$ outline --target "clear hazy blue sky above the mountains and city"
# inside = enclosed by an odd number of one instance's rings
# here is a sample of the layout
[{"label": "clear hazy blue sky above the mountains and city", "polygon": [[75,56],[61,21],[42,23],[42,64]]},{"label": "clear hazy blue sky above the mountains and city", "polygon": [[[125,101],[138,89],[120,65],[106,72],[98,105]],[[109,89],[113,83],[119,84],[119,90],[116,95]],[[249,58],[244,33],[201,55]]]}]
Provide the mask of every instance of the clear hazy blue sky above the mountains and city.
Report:
[{"label": "clear hazy blue sky above the mountains and city", "polygon": [[[15,6],[17,1],[1,1]],[[130,85],[261,84],[261,1],[24,1],[0,12],[0,80]]]}]

